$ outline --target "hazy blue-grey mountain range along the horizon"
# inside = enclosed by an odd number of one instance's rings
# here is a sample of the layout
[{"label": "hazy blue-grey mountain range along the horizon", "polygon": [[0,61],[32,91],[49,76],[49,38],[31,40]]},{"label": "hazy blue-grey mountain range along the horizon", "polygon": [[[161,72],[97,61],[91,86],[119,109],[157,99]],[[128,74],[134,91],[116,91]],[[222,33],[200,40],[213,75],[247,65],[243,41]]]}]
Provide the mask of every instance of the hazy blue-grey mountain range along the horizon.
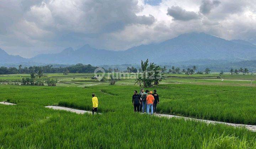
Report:
[{"label": "hazy blue-grey mountain range along the horizon", "polygon": [[155,63],[174,63],[201,59],[230,62],[255,60],[256,45],[244,40],[225,40],[205,33],[188,33],[161,43],[135,46],[123,51],[95,49],[89,45],[57,54],[39,54],[30,59],[7,54],[0,49],[0,64],[34,62],[43,64],[117,65],[139,64],[149,58]]}]

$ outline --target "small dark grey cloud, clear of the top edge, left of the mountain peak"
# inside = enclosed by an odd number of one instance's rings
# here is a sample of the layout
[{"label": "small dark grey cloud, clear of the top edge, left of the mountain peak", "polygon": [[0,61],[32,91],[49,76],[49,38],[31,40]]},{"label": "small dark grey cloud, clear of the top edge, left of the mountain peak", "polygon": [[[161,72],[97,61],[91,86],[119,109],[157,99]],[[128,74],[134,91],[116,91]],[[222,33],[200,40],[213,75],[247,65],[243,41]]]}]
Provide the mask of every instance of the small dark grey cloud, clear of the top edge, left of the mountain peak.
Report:
[{"label": "small dark grey cloud, clear of the top edge, left of the mountain peak", "polygon": [[167,15],[172,16],[174,20],[188,21],[198,19],[198,14],[193,11],[186,11],[179,6],[172,6],[167,9]]}]

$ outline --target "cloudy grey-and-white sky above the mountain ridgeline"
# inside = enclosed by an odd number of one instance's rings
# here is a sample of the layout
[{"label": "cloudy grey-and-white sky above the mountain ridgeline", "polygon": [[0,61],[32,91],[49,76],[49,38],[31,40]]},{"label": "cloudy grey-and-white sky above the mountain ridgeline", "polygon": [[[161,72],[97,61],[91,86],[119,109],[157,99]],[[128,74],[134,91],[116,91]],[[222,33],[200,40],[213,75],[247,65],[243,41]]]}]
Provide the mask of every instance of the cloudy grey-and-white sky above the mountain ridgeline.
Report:
[{"label": "cloudy grey-and-white sky above the mountain ridgeline", "polygon": [[0,48],[32,57],[65,48],[124,50],[205,32],[256,43],[255,0],[0,0]]}]

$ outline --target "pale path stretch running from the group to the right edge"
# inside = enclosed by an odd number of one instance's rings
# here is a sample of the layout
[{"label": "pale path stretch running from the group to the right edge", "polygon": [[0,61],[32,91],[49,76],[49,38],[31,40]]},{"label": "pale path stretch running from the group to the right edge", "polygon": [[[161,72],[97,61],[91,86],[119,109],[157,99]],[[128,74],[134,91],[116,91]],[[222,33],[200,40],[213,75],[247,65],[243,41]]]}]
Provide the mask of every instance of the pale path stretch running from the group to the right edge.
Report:
[{"label": "pale path stretch running from the group to the right edge", "polygon": [[190,117],[182,117],[182,116],[175,116],[175,115],[167,115],[167,114],[155,114],[155,116],[159,117],[167,117],[167,118],[184,118],[185,120],[193,120],[193,121],[199,121],[199,122],[205,122],[205,123],[219,123],[219,124],[224,124],[224,125],[229,125],[229,126],[234,126],[234,127],[245,127],[249,129],[250,131],[256,132],[256,126],[255,125],[244,125],[244,124],[234,124],[234,123],[226,123],[226,122],[218,122],[218,121],[210,121],[210,120],[200,120],[196,118],[190,118]]}]

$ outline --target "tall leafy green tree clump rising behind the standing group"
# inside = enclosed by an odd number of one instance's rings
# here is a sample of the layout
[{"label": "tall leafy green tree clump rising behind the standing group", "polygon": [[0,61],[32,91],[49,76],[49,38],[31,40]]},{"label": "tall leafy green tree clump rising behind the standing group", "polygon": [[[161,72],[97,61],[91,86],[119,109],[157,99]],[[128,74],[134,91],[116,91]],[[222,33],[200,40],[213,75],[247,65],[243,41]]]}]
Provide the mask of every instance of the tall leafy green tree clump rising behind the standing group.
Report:
[{"label": "tall leafy green tree clump rising behind the standing group", "polygon": [[135,84],[139,84],[140,87],[150,87],[152,85],[158,85],[164,73],[162,73],[162,68],[156,66],[154,63],[149,64],[149,60],[141,61],[141,73],[138,73]]}]

